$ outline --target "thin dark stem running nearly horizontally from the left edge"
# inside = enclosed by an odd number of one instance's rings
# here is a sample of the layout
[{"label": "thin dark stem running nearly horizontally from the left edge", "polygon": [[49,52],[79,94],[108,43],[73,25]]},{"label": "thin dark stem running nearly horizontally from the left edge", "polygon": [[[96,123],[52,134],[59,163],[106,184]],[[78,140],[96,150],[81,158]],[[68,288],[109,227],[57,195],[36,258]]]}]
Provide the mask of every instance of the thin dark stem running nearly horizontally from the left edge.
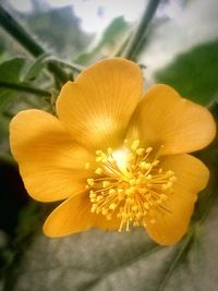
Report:
[{"label": "thin dark stem running nearly horizontally from the left edge", "polygon": [[35,87],[29,87],[28,85],[19,83],[14,84],[11,82],[0,81],[0,88],[7,88],[10,90],[17,90],[17,92],[25,92],[25,93],[32,93],[37,96],[44,96],[44,97],[51,97],[51,94],[48,90],[38,89]]}]

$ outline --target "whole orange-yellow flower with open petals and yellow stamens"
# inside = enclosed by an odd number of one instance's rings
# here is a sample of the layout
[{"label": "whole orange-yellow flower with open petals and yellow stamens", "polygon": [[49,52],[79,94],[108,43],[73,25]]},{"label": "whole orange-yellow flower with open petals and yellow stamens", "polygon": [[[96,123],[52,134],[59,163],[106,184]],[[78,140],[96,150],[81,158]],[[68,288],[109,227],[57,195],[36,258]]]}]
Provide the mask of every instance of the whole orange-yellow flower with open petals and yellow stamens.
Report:
[{"label": "whole orange-yellow flower with open petals and yellow stamens", "polygon": [[213,141],[215,122],[167,85],[142,92],[137,64],[108,59],[62,87],[58,117],[13,118],[11,149],[29,195],[65,199],[47,218],[47,235],[142,226],[157,243],[173,244],[185,233],[209,177],[185,153]]}]

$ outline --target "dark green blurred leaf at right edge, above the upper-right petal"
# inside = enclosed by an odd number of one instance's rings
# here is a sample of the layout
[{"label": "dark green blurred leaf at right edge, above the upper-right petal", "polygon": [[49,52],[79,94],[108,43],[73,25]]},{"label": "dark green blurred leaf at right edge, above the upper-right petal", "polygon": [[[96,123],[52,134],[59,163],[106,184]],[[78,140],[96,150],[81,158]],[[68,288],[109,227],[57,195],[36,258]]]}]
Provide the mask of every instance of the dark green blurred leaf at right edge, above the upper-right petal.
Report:
[{"label": "dark green blurred leaf at right edge, above the upper-right petal", "polygon": [[208,105],[218,93],[218,40],[193,48],[175,58],[155,75],[182,96]]}]

